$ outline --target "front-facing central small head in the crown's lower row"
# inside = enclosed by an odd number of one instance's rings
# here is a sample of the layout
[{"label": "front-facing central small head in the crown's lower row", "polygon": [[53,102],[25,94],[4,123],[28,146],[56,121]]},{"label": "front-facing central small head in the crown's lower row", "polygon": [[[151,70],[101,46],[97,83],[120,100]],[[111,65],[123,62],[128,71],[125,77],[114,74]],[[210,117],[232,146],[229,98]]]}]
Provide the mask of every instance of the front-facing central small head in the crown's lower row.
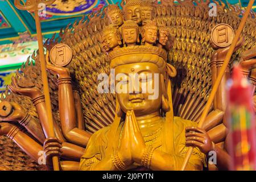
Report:
[{"label": "front-facing central small head in the crown's lower row", "polygon": [[121,26],[123,41],[127,46],[135,46],[139,43],[139,26],[133,20],[127,20]]}]

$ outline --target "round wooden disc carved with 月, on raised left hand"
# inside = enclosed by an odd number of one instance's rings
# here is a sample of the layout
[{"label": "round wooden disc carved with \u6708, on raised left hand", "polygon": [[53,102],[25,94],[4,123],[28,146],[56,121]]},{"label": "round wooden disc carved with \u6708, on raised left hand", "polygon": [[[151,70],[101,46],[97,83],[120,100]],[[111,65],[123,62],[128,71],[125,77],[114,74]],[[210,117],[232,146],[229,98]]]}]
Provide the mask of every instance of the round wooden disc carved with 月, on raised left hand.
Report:
[{"label": "round wooden disc carved with \u6708, on raised left hand", "polygon": [[49,58],[52,64],[58,67],[65,67],[72,60],[71,48],[66,44],[57,44],[51,49]]}]

